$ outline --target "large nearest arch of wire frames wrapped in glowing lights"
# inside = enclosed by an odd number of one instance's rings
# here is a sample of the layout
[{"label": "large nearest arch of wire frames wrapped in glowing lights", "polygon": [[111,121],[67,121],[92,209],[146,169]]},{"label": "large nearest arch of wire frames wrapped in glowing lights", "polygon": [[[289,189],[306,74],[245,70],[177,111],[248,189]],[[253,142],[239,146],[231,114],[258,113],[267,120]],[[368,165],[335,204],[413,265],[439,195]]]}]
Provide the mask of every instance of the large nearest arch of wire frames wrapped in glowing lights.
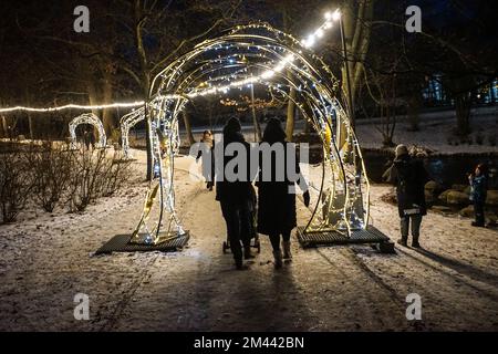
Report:
[{"label": "large nearest arch of wire frames wrapped in glowing lights", "polygon": [[[145,110],[152,119],[157,178],[149,185],[132,242],[160,243],[185,232],[175,210],[173,177],[174,153],[179,146],[178,114],[186,103],[248,85],[294,101],[323,142],[319,197],[304,232],[350,236],[366,228],[370,185],[362,153],[336,97],[339,82],[309,46],[309,42],[299,42],[266,23],[238,25],[201,42],[154,79],[153,100]],[[295,95],[290,95],[291,88]]]}]

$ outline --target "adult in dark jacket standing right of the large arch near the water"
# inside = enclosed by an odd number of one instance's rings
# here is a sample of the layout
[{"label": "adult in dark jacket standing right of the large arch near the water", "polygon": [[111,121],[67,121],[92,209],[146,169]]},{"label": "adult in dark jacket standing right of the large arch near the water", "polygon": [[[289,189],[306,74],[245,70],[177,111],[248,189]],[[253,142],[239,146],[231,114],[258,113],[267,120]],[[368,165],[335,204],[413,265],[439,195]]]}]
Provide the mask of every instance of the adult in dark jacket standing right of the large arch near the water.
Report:
[{"label": "adult in dark jacket standing right of the large arch near the water", "polygon": [[427,171],[422,160],[409,156],[405,145],[398,145],[394,163],[384,177],[387,181],[396,185],[402,235],[397,242],[407,246],[409,223],[412,222],[412,247],[419,248],[422,218],[427,215],[424,192],[425,184],[428,181]]}]

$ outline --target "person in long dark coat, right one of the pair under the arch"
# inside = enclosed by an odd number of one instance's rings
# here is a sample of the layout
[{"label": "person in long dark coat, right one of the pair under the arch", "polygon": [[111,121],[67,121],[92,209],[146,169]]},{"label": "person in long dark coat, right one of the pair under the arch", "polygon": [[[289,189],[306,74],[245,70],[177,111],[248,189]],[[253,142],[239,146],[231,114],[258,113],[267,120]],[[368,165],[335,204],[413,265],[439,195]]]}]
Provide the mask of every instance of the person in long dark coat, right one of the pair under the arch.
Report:
[{"label": "person in long dark coat, right one of the pair under the arch", "polygon": [[[269,149],[268,156],[260,156],[260,173],[257,183],[258,187],[258,232],[268,235],[270,237],[273,249],[274,267],[279,269],[282,267],[282,251],[280,249],[280,237],[282,238],[283,259],[291,259],[290,251],[290,236],[292,229],[297,226],[295,220],[295,183],[298,178],[302,178],[304,204],[308,207],[310,204],[310,194],[305,186],[304,178],[299,169],[299,160],[295,156],[294,149],[288,149],[286,143],[286,132],[282,129],[280,121],[271,118],[263,133],[262,144],[267,143],[270,148],[278,148],[281,145],[283,150],[283,158],[277,159],[277,154]],[[261,148],[263,152],[263,148]],[[292,153],[293,152],[293,153]],[[288,176],[287,164],[289,163],[288,154],[295,156],[295,176],[292,179]],[[261,153],[263,154],[263,153]],[[263,164],[264,158],[270,163]],[[283,164],[281,164],[283,163]],[[283,178],[277,178],[279,171],[277,168],[284,169]],[[270,178],[268,178],[270,177]]]}]

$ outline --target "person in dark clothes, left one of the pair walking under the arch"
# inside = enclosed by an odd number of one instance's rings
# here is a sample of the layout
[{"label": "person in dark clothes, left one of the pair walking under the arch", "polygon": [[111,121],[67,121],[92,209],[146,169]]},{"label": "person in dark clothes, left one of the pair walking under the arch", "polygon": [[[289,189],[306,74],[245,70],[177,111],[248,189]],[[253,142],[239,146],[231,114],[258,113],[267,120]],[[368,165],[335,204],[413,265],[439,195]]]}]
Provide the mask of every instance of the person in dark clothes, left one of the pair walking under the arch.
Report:
[{"label": "person in dark clothes, left one of the pair walking under the arch", "polygon": [[[222,152],[224,156],[216,156],[216,162],[222,160],[220,167],[226,170],[227,164],[230,163],[236,156],[225,156],[225,149],[231,143],[241,144],[246,149],[246,158],[248,166],[250,165],[249,153],[250,145],[245,140],[241,133],[241,125],[238,118],[230,118],[224,127],[222,133]],[[218,150],[216,150],[218,154]],[[218,166],[217,166],[218,169]],[[238,167],[236,167],[238,169]],[[248,168],[248,171],[250,168]],[[236,170],[237,173],[237,170]],[[218,170],[217,170],[218,176]],[[221,180],[216,180],[216,200],[220,202],[221,212],[227,223],[228,240],[230,242],[230,250],[234,254],[236,267],[238,270],[246,269],[242,263],[242,256],[246,259],[253,258],[250,248],[251,238],[251,207],[253,189],[251,178],[243,176],[236,180],[227,180],[227,176],[224,175]],[[243,254],[242,254],[242,242]]]}]

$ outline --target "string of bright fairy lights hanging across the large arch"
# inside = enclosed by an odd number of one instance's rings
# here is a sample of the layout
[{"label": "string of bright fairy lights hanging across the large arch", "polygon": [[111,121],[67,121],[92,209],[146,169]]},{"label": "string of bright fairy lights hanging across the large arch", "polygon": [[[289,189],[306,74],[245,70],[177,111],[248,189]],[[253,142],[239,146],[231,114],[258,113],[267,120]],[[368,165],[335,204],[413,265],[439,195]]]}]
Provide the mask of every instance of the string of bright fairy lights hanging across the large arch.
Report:
[{"label": "string of bright fairy lights hanging across the large arch", "polygon": [[[326,12],[325,21],[311,34],[309,34],[305,39],[301,41],[301,44],[307,48],[311,49],[318,40],[324,37],[325,31],[330,30],[334,22],[339,21],[341,18],[341,12],[335,10],[334,12]],[[259,75],[253,75],[250,77],[246,77],[243,80],[237,80],[232,81],[227,85],[220,85],[220,86],[212,86],[209,88],[199,88],[194,90],[186,95],[166,95],[158,98],[195,98],[198,96],[207,96],[212,95],[216,93],[227,93],[230,88],[236,87],[242,87],[246,85],[252,85],[257,82],[264,81],[271,79],[277,73],[282,72],[286,70],[289,65],[291,65],[295,60],[294,54],[288,54],[286,55],[280,62],[278,62],[273,67],[263,71]],[[107,110],[107,108],[135,108],[139,106],[144,106],[144,101],[135,101],[135,102],[116,102],[111,104],[100,104],[100,105],[80,105],[80,104],[66,104],[62,106],[55,106],[55,107],[29,107],[29,106],[14,106],[14,107],[3,107],[0,108],[0,113],[11,113],[11,112],[38,112],[38,113],[53,113],[53,112],[60,112],[64,110],[82,110],[82,111],[98,111],[98,110]]]}]

